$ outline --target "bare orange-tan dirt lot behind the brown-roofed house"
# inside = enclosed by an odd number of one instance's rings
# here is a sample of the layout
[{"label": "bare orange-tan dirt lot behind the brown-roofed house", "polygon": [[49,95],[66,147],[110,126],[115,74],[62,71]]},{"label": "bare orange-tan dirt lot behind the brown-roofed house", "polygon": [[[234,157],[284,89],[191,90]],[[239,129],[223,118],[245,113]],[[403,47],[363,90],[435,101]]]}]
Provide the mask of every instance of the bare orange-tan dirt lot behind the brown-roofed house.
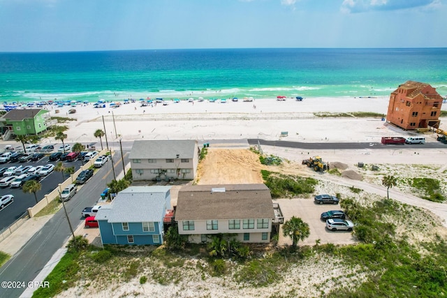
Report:
[{"label": "bare orange-tan dirt lot behind the brown-roofed house", "polygon": [[196,183],[251,184],[263,183],[259,157],[248,149],[208,149],[198,165]]}]

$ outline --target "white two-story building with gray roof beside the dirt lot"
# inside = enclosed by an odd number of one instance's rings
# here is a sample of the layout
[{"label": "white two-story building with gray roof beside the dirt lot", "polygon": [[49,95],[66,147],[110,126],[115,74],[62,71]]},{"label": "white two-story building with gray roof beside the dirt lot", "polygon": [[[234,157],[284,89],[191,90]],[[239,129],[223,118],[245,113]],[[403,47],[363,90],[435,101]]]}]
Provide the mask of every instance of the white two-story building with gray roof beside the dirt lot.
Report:
[{"label": "white two-story building with gray roof beside the dirt lot", "polygon": [[193,180],[199,156],[195,140],[136,140],[129,155],[133,180]]}]

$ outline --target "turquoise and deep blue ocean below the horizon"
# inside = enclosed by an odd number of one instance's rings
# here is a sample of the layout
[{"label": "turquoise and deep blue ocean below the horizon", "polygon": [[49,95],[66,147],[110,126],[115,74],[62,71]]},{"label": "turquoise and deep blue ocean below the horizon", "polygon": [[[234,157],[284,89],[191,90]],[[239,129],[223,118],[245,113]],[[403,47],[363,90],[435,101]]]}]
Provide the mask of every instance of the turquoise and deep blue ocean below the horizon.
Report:
[{"label": "turquoise and deep blue ocean below the horizon", "polygon": [[0,53],[0,103],[127,98],[447,96],[447,48]]}]

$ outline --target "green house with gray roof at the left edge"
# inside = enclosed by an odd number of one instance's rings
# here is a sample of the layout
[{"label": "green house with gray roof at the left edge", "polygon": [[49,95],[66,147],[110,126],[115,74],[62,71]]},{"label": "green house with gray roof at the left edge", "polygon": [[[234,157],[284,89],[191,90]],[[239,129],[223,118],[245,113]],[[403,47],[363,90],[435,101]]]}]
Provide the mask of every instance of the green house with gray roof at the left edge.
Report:
[{"label": "green house with gray roof at the left edge", "polygon": [[43,109],[10,110],[0,118],[2,133],[10,131],[15,135],[37,135],[47,130],[49,120],[50,112]]}]

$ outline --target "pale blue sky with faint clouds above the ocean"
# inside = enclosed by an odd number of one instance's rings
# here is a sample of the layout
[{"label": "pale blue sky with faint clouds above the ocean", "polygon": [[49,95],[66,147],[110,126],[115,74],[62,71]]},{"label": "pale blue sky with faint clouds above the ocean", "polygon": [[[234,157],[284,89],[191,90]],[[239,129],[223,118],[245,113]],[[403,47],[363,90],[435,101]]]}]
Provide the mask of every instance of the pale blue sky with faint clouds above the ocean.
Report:
[{"label": "pale blue sky with faint clouds above the ocean", "polygon": [[447,0],[0,0],[0,52],[447,47]]}]

